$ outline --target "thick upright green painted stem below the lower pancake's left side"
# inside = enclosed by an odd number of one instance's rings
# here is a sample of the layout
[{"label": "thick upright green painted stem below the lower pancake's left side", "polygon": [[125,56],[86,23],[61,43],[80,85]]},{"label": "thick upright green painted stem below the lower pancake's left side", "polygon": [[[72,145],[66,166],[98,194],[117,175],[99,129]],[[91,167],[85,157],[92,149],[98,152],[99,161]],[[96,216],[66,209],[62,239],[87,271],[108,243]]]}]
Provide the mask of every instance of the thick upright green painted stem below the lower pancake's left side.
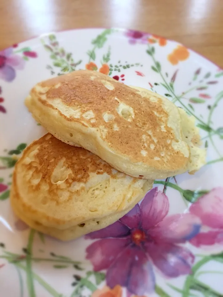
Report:
[{"label": "thick upright green painted stem below the lower pancake's left side", "polygon": [[26,282],[28,287],[29,297],[36,297],[34,283],[33,283],[33,271],[32,271],[32,249],[33,238],[35,230],[31,229],[28,238],[27,256],[26,256]]}]

